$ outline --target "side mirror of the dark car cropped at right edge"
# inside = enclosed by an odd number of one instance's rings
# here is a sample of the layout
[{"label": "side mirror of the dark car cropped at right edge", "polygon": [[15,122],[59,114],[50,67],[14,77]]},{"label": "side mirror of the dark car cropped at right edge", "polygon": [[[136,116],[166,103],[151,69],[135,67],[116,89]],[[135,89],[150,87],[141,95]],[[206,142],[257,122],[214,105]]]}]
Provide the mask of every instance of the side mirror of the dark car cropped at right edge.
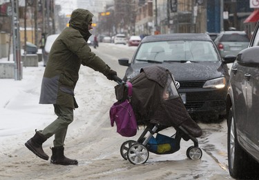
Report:
[{"label": "side mirror of the dark car cropped at right edge", "polygon": [[259,66],[259,46],[246,48],[238,53],[236,61],[238,63]]}]

